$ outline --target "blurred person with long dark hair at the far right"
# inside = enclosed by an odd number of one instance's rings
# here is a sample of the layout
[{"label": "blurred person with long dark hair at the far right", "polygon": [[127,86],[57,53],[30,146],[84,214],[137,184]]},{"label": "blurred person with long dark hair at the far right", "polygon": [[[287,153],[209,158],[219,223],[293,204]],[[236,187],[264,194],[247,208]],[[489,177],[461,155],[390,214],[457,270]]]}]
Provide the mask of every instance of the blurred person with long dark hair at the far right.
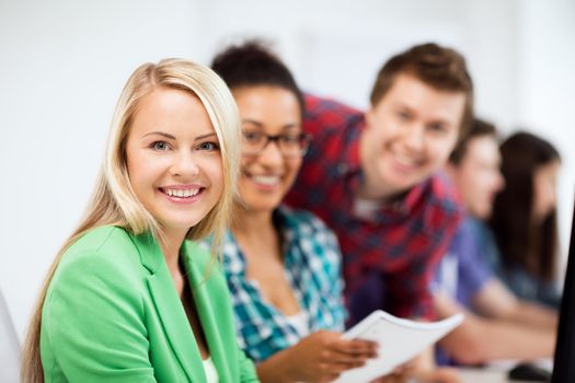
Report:
[{"label": "blurred person with long dark hair at the far right", "polygon": [[559,309],[560,154],[549,141],[528,132],[508,137],[501,152],[507,186],[495,198],[491,219],[499,249],[492,266],[517,297]]}]

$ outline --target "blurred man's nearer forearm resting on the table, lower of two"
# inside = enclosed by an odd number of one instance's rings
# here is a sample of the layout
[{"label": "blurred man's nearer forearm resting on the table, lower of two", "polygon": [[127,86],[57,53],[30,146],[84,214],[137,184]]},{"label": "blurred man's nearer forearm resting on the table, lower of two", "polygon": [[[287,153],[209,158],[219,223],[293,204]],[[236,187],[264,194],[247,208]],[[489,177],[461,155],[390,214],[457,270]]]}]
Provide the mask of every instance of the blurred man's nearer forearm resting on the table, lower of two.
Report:
[{"label": "blurred man's nearer forearm resting on the table, lower of two", "polygon": [[439,317],[463,312],[463,323],[439,344],[463,364],[483,363],[494,359],[548,358],[555,348],[555,333],[496,318],[483,318],[467,311],[447,294],[434,295]]}]

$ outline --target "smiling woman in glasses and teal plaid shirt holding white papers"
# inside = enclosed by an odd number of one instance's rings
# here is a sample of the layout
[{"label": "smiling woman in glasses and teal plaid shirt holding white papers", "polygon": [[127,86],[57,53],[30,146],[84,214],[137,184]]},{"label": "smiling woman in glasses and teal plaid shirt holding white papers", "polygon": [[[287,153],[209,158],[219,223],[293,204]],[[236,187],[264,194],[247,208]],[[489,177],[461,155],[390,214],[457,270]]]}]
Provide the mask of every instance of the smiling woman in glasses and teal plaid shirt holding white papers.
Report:
[{"label": "smiling woman in glasses and teal plaid shirt holding white papers", "polygon": [[311,213],[280,205],[310,140],[301,92],[254,42],[222,51],[212,69],[232,91],[243,131],[240,200],[223,251],[240,345],[264,382],[333,380],[376,348],[340,337],[345,309],[334,234]]}]

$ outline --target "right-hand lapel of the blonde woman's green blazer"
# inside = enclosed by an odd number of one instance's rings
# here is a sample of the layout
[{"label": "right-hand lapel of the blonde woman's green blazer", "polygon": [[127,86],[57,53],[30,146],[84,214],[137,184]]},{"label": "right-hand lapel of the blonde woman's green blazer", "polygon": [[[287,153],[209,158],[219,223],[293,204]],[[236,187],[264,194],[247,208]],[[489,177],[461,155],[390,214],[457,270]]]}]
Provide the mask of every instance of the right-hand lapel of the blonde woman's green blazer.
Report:
[{"label": "right-hand lapel of the blonde woman's green blazer", "polygon": [[[214,279],[210,279],[212,272],[217,272],[218,265],[212,265],[210,268],[210,258],[208,251],[202,248],[198,244],[191,241],[185,241],[184,244],[184,262],[188,274],[188,281],[194,297],[202,328],[206,336],[209,347],[209,353],[216,369],[218,370],[220,382],[232,382],[234,379],[230,375],[229,363],[232,362],[226,353],[225,343],[221,339],[221,333],[218,328],[219,316],[214,310],[214,300],[222,299],[220,294],[215,291]],[[211,286],[211,291],[210,291]],[[211,292],[211,293],[210,293]],[[235,341],[235,339],[231,339]],[[235,347],[235,344],[231,345]]]}]

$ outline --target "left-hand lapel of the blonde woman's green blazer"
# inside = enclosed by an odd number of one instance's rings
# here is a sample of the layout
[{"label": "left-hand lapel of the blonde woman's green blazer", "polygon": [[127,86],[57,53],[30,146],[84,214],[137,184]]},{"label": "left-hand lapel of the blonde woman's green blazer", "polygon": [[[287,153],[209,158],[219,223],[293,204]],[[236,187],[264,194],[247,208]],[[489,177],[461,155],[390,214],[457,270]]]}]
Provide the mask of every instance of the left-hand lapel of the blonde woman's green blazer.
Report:
[{"label": "left-hand lapel of the blonde woman's green blazer", "polygon": [[161,251],[151,234],[135,237],[141,264],[150,271],[148,290],[160,317],[168,341],[189,382],[204,382],[206,375],[194,332]]}]

